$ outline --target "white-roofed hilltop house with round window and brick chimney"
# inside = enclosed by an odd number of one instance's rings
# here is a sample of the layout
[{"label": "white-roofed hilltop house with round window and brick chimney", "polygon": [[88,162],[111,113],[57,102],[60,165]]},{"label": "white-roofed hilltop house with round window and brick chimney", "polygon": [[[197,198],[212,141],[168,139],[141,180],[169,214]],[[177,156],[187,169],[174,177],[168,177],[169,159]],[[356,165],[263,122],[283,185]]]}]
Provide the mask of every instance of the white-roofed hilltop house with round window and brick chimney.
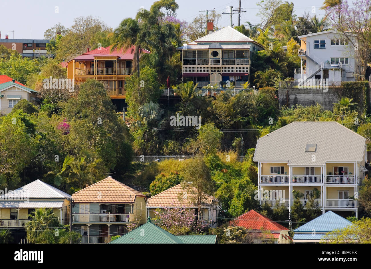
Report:
[{"label": "white-roofed hilltop house with round window and brick chimney", "polygon": [[183,80],[198,83],[198,87],[230,81],[235,88],[242,88],[250,81],[253,54],[264,48],[227,26],[177,49],[181,51]]}]

